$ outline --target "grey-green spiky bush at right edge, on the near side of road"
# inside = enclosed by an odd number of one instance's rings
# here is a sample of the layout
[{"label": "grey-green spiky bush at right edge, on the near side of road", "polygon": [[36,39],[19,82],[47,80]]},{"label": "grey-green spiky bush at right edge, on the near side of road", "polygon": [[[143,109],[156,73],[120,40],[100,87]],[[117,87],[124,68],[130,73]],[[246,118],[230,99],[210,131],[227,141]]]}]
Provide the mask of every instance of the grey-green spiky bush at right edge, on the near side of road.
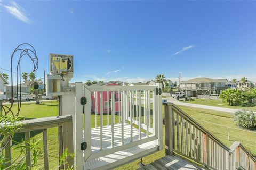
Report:
[{"label": "grey-green spiky bush at right edge, on the near side of road", "polygon": [[236,124],[242,128],[246,129],[256,129],[256,115],[253,111],[237,111],[234,113],[234,121]]}]

